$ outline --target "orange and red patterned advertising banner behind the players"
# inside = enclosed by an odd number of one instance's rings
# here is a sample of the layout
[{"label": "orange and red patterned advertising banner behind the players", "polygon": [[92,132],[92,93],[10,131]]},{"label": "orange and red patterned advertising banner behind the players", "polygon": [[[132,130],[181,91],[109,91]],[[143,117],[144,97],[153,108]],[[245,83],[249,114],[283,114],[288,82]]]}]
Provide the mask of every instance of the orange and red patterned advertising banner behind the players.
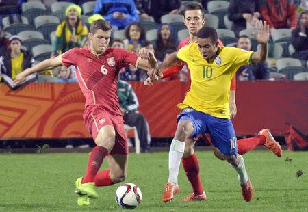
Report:
[{"label": "orange and red patterned advertising banner behind the players", "polygon": [[[132,82],[140,113],[149,122],[151,136],[172,137],[186,83]],[[308,82],[240,82],[238,115],[233,120],[238,135],[254,135],[269,128],[284,135],[286,123],[308,134]],[[29,83],[13,92],[0,83],[0,138],[90,137],[82,114],[85,98],[77,83]]]}]

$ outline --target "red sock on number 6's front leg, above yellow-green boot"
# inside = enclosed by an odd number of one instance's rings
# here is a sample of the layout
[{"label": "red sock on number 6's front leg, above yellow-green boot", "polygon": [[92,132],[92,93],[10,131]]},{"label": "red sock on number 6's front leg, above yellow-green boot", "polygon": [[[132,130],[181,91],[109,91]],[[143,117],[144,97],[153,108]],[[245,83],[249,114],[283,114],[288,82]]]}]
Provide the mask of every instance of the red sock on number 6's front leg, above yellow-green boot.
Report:
[{"label": "red sock on number 6's front leg, above yellow-green boot", "polygon": [[103,163],[103,159],[107,154],[108,150],[103,146],[96,146],[93,148],[89,157],[86,176],[84,176],[81,183],[88,183],[94,181],[94,177],[99,171],[101,163]]}]

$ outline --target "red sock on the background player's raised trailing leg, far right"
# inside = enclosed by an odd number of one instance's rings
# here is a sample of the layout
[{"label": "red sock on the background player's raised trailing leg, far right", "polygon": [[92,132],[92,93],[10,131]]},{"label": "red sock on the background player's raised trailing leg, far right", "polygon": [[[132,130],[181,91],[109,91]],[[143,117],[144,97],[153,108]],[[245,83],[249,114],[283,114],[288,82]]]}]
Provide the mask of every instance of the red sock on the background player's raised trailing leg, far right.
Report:
[{"label": "red sock on the background player's raised trailing leg, far right", "polygon": [[238,154],[243,155],[253,150],[256,146],[263,145],[265,142],[266,138],[264,135],[240,139],[238,140]]}]

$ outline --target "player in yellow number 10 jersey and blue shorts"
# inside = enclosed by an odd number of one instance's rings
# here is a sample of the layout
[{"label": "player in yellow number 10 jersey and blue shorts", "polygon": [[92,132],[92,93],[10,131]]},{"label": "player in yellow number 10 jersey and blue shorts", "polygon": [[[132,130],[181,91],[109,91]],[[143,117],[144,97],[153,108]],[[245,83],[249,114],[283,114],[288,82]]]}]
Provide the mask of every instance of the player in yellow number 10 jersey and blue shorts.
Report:
[{"label": "player in yellow number 10 jersey and blue shorts", "polygon": [[[214,155],[227,160],[238,172],[244,200],[251,200],[253,187],[245,169],[244,159],[237,153],[235,131],[229,119],[229,88],[231,78],[240,66],[264,62],[266,59],[269,27],[262,21],[259,21],[257,26],[258,34],[255,38],[261,44],[257,52],[219,47],[217,32],[211,27],[200,29],[197,43],[177,52],[178,59],[188,64],[192,80],[190,91],[183,103],[177,105],[182,111],[170,146],[169,178],[166,185],[167,190],[172,190],[172,194],[179,194],[179,186],[172,185],[172,182],[177,182],[185,140],[198,134],[209,133],[214,143]],[[156,71],[153,70],[152,78],[155,77]]]}]

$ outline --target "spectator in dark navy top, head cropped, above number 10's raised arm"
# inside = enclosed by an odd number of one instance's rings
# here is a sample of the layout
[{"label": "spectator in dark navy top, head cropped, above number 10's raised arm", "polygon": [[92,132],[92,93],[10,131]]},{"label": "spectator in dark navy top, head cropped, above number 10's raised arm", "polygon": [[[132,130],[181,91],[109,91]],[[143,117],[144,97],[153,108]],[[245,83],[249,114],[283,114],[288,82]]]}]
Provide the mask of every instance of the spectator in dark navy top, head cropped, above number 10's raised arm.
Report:
[{"label": "spectator in dark navy top, head cropped, above number 10's raised arm", "polygon": [[228,18],[233,21],[231,30],[238,33],[243,29],[256,26],[260,17],[258,0],[231,0],[228,8]]}]

